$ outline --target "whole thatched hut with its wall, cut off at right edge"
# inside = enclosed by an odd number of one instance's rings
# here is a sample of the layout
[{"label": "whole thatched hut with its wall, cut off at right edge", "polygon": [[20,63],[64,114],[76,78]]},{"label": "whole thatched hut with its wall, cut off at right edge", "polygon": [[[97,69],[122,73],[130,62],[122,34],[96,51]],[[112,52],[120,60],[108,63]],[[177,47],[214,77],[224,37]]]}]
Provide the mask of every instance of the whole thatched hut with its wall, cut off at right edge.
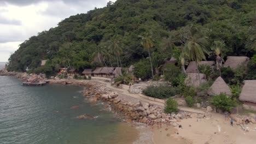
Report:
[{"label": "whole thatched hut with its wall, cut off at right edge", "polygon": [[246,80],[239,100],[243,101],[243,108],[256,111],[256,80]]}]

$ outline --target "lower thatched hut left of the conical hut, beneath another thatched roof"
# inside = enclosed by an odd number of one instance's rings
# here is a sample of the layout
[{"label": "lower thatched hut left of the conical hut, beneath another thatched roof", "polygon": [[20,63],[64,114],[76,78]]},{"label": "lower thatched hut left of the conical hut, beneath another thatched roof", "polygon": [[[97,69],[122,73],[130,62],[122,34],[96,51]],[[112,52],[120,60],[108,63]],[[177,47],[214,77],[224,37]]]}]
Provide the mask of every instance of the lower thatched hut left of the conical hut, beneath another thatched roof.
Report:
[{"label": "lower thatched hut left of the conical hut, beneath another thatched roof", "polygon": [[[201,83],[206,82],[205,74],[189,73],[185,79],[186,86],[198,87]],[[201,83],[200,83],[201,79]]]}]

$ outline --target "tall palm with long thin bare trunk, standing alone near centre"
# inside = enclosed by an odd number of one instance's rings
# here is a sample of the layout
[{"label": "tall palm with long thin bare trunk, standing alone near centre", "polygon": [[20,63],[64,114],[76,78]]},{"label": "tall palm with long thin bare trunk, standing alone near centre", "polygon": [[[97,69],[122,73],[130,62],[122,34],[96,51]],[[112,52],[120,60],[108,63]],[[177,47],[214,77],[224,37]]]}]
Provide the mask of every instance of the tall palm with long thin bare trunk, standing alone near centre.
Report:
[{"label": "tall palm with long thin bare trunk, standing alone near centre", "polygon": [[153,40],[151,39],[150,35],[147,32],[144,33],[143,36],[139,35],[139,38],[141,38],[141,45],[143,45],[143,48],[148,51],[150,64],[151,64],[152,79],[154,79],[153,65],[152,65],[152,60],[149,52],[149,50],[152,49],[152,47],[154,46]]}]

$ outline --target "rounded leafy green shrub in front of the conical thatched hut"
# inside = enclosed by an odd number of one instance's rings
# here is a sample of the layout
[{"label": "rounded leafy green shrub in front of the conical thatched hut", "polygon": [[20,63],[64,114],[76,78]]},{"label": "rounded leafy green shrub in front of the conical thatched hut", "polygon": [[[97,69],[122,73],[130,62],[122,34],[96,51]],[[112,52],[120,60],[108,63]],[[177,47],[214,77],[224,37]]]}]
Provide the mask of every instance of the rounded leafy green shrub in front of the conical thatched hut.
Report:
[{"label": "rounded leafy green shrub in front of the conical thatched hut", "polygon": [[225,111],[231,111],[237,105],[236,100],[228,97],[225,93],[214,96],[211,103],[216,106],[217,109]]}]

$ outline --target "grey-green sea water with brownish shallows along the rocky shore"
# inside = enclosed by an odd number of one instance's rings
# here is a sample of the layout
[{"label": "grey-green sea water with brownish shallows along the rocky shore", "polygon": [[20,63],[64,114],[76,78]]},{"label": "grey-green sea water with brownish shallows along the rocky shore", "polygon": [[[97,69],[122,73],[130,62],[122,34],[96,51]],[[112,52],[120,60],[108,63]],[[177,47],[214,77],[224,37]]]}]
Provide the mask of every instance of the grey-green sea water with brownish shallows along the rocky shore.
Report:
[{"label": "grey-green sea water with brownish shallows along the rocky shore", "polygon": [[[84,100],[82,87],[21,86],[0,76],[0,143],[134,143],[138,130],[103,105]],[[78,109],[70,109],[79,106]],[[78,119],[79,115],[97,116]]]}]

